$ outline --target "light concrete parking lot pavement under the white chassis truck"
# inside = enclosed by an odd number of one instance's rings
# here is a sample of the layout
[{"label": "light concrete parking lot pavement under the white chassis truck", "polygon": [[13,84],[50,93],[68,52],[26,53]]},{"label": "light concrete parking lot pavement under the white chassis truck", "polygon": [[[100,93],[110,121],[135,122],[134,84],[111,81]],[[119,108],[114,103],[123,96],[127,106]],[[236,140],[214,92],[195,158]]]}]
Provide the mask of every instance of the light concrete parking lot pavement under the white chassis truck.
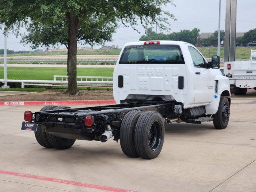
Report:
[{"label": "light concrete parking lot pavement under the white chassis truck", "polygon": [[77,140],[67,150],[41,147],[21,131],[24,111],[0,107],[0,191],[8,192],[255,192],[256,91],[232,96],[229,125],[166,126],[153,160],[128,158],[120,143]]}]

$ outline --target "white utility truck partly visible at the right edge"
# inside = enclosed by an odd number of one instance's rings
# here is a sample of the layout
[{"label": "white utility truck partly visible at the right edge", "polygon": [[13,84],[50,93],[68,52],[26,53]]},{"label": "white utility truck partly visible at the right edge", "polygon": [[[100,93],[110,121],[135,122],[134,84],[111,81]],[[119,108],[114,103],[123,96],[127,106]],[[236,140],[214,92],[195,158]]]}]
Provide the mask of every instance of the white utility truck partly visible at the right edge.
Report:
[{"label": "white utility truck partly visible at the right edge", "polygon": [[235,95],[245,95],[248,88],[256,90],[256,50],[251,51],[248,61],[224,62],[223,72]]}]

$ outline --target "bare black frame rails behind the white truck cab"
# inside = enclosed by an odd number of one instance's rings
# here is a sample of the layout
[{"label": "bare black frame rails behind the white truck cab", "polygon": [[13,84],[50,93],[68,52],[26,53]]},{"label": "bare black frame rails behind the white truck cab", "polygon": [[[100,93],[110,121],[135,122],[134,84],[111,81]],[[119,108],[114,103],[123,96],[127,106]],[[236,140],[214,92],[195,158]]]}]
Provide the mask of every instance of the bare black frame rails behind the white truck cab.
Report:
[{"label": "bare black frame rails behind the white truck cab", "polygon": [[[94,106],[90,108],[74,108],[63,110],[50,110],[45,112],[35,112],[34,122],[37,124],[64,124],[70,126],[84,126],[86,115],[94,118],[104,118],[108,124],[121,125],[122,118],[131,110],[156,111],[164,118],[171,118],[175,105],[181,105],[174,101],[136,101],[125,104],[115,104],[108,106]],[[177,117],[177,116],[175,116]],[[94,122],[97,123],[95,119]],[[119,123],[118,123],[119,122]]]}]

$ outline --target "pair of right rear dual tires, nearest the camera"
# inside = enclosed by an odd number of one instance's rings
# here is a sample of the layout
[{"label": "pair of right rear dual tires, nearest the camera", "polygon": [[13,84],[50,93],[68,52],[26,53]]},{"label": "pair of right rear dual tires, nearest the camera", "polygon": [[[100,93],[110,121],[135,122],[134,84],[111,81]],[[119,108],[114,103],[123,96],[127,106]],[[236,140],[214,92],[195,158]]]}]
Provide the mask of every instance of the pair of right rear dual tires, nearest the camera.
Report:
[{"label": "pair of right rear dual tires, nearest the camera", "polygon": [[164,122],[158,112],[130,111],[120,129],[120,144],[124,154],[146,159],[156,158],[164,144]]}]

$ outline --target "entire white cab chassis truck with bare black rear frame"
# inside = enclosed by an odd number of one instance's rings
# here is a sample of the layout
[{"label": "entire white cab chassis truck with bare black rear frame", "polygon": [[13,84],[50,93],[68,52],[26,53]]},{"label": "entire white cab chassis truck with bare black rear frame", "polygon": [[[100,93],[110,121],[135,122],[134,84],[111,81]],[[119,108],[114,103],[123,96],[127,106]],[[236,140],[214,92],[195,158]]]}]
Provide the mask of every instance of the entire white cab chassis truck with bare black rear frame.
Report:
[{"label": "entire white cab chassis truck with bare black rear frame", "polygon": [[177,41],[127,43],[113,77],[115,105],[88,108],[44,106],[24,113],[22,130],[35,131],[46,148],[70,148],[76,139],[120,140],[126,156],[156,158],[164,125],[213,121],[224,129],[230,116],[230,86],[219,68],[191,44]]}]

